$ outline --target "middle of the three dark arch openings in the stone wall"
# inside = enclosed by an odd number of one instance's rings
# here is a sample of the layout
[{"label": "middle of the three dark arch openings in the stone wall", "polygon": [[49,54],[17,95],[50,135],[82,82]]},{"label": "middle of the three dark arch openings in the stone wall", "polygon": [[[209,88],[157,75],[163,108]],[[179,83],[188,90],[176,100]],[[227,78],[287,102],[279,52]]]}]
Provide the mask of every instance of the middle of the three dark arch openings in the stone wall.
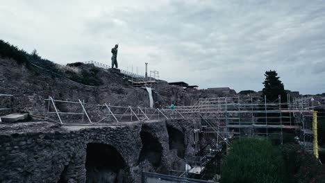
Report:
[{"label": "middle of the three dark arch openings in the stone wall", "polygon": [[163,155],[163,147],[158,139],[153,137],[149,132],[141,130],[140,137],[142,140],[142,149],[140,151],[139,162],[144,162],[147,159],[153,166],[158,168]]}]

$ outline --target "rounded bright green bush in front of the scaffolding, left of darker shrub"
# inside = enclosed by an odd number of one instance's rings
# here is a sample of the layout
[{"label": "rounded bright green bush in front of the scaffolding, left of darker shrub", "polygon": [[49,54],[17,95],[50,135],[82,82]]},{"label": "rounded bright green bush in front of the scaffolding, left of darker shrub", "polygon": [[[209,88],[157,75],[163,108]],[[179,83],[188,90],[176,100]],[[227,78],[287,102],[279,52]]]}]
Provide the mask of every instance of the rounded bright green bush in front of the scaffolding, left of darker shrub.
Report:
[{"label": "rounded bright green bush in front of the scaffolding, left of darker shrub", "polygon": [[285,182],[281,151],[265,139],[235,141],[222,164],[221,182]]}]

